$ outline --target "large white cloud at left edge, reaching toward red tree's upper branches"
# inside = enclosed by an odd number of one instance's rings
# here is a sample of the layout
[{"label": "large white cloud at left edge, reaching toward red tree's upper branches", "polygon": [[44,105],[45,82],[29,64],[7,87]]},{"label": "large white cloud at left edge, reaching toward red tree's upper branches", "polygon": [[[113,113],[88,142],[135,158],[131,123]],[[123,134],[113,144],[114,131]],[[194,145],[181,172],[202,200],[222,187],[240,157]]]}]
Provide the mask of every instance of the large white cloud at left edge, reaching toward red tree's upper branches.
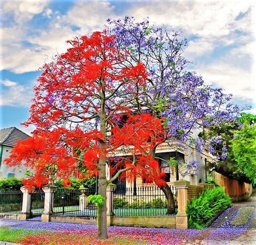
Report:
[{"label": "large white cloud at left edge, reaching toward red tree's upper branches", "polygon": [[[15,32],[15,31],[13,31]],[[28,37],[29,47],[14,38],[10,43],[3,43],[0,69],[10,69],[15,73],[37,71],[45,62],[51,60],[57,52],[66,50],[66,40],[76,35],[69,27],[51,27],[37,37]]]}]

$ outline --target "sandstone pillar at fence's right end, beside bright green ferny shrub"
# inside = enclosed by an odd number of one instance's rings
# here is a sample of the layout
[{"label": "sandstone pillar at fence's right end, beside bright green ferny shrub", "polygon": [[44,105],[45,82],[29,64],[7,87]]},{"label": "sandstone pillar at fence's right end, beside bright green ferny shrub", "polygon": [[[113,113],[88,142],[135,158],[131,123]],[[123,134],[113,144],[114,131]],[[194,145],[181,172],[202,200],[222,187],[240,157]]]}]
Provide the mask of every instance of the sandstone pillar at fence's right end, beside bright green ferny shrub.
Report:
[{"label": "sandstone pillar at fence's right end, beside bright green ferny shrub", "polygon": [[190,181],[180,179],[174,181],[174,186],[178,191],[178,213],[176,215],[176,228],[187,229],[187,188],[190,186]]}]

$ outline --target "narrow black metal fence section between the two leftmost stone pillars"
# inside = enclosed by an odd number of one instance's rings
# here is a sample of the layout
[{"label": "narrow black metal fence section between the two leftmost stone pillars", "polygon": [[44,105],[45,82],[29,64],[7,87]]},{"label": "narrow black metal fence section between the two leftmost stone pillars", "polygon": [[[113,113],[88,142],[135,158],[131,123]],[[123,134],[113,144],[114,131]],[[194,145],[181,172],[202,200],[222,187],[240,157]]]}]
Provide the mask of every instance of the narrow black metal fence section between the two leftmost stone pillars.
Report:
[{"label": "narrow black metal fence section between the two leftmost stone pillars", "polygon": [[31,193],[31,217],[41,216],[44,212],[44,191],[36,190]]}]

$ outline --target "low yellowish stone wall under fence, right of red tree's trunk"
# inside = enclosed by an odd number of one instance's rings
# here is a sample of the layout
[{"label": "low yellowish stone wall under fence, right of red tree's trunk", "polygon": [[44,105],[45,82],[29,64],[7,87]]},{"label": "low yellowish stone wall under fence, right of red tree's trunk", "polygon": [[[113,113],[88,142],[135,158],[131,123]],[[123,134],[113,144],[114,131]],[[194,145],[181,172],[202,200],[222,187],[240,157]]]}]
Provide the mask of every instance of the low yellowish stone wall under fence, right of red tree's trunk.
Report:
[{"label": "low yellowish stone wall under fence, right of red tree's trunk", "polygon": [[113,216],[112,226],[176,228],[176,216]]}]

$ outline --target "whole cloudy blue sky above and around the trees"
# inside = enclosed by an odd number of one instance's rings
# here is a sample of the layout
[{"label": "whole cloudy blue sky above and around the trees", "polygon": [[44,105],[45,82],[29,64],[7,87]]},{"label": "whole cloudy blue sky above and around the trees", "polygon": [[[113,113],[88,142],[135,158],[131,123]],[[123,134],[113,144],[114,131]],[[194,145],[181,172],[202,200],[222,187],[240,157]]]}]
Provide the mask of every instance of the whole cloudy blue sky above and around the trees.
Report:
[{"label": "whole cloudy blue sky above and around the trees", "polygon": [[256,113],[252,1],[1,1],[0,128],[29,133],[20,123],[29,116],[38,68],[64,52],[66,40],[125,15],[183,31],[190,69]]}]

